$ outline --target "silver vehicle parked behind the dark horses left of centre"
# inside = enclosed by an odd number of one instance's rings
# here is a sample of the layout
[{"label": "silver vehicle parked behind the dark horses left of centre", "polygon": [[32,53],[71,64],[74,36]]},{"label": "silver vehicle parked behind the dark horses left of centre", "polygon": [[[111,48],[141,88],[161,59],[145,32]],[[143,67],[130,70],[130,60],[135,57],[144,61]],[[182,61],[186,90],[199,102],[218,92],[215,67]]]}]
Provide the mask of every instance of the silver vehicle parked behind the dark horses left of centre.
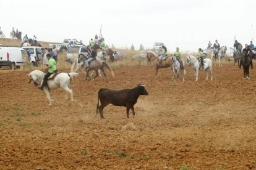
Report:
[{"label": "silver vehicle parked behind the dark horses left of centre", "polygon": [[87,46],[83,46],[83,47],[70,47],[67,50],[67,62],[72,63],[74,61],[74,59],[77,59],[79,57],[79,55],[88,55],[88,49]]}]

